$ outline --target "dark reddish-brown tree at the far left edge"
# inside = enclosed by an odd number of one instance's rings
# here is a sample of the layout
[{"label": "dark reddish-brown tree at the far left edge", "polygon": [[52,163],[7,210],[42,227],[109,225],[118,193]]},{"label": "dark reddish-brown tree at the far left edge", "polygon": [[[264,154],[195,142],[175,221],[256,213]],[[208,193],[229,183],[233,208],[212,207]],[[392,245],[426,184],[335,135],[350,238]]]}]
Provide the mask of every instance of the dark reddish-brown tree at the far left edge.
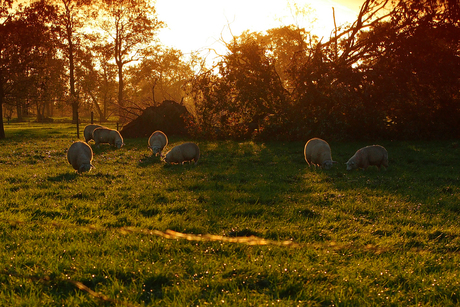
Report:
[{"label": "dark reddish-brown tree at the far left edge", "polygon": [[[49,68],[48,64],[55,58],[56,48],[53,42],[56,40],[51,26],[55,18],[55,8],[44,1],[34,2],[30,7],[19,6],[14,14],[11,11],[11,3],[2,2],[0,13],[2,14],[0,17],[2,22],[0,24],[2,37],[0,40],[0,111],[2,111],[1,108],[6,100],[38,101],[39,97],[36,95],[39,90],[38,84],[42,86],[42,94],[45,92],[45,88],[48,87],[45,86],[46,81],[42,78],[43,71]],[[47,94],[49,93],[47,91]],[[0,138],[4,137],[2,116]]]}]

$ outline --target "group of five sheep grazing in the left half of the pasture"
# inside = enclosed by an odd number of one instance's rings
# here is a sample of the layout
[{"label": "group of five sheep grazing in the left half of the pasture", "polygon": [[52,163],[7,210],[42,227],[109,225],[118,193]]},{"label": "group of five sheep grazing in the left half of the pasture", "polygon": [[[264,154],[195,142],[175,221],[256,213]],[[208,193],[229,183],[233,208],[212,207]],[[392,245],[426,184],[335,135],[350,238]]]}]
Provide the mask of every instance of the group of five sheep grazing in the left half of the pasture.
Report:
[{"label": "group of five sheep grazing in the left half of the pasture", "polygon": [[[67,161],[79,174],[94,168],[91,164],[93,150],[88,145],[90,140],[94,140],[96,147],[99,147],[101,143],[108,143],[116,148],[125,145],[120,132],[99,125],[87,125],[83,135],[85,137],[84,142],[76,141],[67,150]],[[152,151],[152,155],[160,155],[166,163],[194,161],[197,164],[200,159],[200,148],[195,143],[177,145],[163,157],[162,151],[166,145],[168,145],[168,137],[162,131],[155,131],[149,137],[148,147]]]}]

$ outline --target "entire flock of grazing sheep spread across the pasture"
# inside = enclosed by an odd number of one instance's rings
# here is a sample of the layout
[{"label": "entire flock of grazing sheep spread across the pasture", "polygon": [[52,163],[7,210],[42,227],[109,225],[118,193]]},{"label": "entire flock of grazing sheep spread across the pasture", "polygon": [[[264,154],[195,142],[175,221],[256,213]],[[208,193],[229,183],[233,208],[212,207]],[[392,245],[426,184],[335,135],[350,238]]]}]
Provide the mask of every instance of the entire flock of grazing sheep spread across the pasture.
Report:
[{"label": "entire flock of grazing sheep spread across the pasture", "polygon": [[[85,141],[74,142],[67,151],[67,161],[79,173],[88,172],[94,166],[93,150],[88,145],[90,140],[94,140],[96,147],[101,143],[108,143],[116,148],[121,148],[123,137],[114,129],[109,129],[99,125],[87,125],[84,130]],[[200,159],[200,148],[195,143],[183,143],[175,146],[165,156],[162,151],[168,145],[168,137],[162,131],[155,131],[149,137],[148,147],[152,151],[152,155],[160,155],[166,163],[184,163],[186,161],[194,161],[198,163]],[[332,160],[331,147],[329,144],[319,138],[313,138],[305,144],[304,148],[305,161],[308,165],[319,166],[324,169],[330,169],[333,164],[337,163]],[[353,157],[346,163],[347,170],[356,168],[366,169],[371,165],[388,167],[388,152],[380,145],[371,145],[359,149]]]}]

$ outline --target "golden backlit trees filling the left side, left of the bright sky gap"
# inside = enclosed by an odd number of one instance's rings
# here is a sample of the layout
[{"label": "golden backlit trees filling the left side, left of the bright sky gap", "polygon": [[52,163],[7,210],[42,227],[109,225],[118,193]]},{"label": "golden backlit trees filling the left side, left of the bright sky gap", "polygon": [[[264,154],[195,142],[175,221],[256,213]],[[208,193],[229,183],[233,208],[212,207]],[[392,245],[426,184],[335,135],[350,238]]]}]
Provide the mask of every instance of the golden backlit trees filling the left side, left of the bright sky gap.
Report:
[{"label": "golden backlit trees filling the left side, left of the bright sky gap", "polygon": [[163,46],[164,26],[148,0],[1,1],[1,114],[76,123],[93,112],[126,123],[157,102],[181,101],[198,58]]}]

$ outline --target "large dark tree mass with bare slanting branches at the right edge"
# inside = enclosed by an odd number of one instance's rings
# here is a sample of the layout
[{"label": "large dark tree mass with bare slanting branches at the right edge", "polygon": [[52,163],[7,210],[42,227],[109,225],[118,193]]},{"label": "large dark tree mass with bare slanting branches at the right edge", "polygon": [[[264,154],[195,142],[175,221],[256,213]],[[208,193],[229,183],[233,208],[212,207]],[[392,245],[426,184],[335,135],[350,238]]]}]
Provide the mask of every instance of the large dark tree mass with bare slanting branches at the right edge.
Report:
[{"label": "large dark tree mass with bare slanting branches at the right edge", "polygon": [[454,2],[365,1],[353,24],[297,54],[295,114],[315,135],[453,135],[460,71]]}]

